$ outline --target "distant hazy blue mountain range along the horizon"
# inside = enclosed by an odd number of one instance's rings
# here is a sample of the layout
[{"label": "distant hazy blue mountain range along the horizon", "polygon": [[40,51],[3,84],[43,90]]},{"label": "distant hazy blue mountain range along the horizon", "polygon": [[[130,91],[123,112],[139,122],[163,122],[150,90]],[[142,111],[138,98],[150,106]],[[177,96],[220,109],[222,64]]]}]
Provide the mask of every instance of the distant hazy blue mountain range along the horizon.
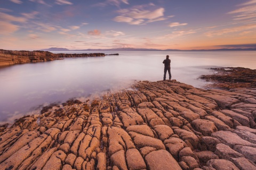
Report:
[{"label": "distant hazy blue mountain range along the horizon", "polygon": [[[41,49],[42,51],[49,51],[49,52],[67,52],[67,51],[181,51],[180,49],[152,49],[152,48],[111,48],[111,49],[75,49],[75,50],[70,50],[67,48],[46,48],[46,49]],[[192,49],[192,50],[225,50],[225,51],[233,51],[233,50],[256,50],[256,48],[220,48],[220,49]],[[186,50],[187,51],[187,50]]]}]

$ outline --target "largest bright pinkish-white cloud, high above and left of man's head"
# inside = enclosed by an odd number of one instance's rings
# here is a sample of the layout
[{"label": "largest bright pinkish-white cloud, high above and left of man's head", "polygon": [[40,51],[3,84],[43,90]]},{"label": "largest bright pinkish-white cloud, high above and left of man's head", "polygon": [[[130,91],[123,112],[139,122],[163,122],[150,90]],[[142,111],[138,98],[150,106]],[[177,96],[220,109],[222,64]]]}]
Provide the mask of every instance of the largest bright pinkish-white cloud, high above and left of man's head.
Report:
[{"label": "largest bright pinkish-white cloud, high above and left of man's head", "polygon": [[164,18],[164,8],[155,8],[152,4],[147,6],[134,6],[129,9],[118,10],[117,12],[120,15],[116,16],[113,19],[114,21],[126,22],[133,25],[166,20],[166,18]]}]

